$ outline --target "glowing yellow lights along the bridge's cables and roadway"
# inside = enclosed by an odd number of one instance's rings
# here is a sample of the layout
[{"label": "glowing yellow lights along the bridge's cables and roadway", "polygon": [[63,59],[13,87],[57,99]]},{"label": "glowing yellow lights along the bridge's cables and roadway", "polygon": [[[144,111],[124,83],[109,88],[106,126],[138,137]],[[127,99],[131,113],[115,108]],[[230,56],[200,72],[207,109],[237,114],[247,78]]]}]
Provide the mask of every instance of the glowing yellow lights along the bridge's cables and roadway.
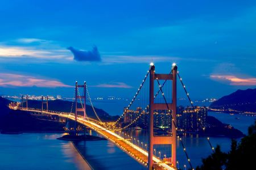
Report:
[{"label": "glowing yellow lights along the bridge's cables and roadway", "polygon": [[[153,65],[154,65],[154,63],[151,63],[151,66],[153,66]],[[172,66],[176,66],[176,64],[173,63]],[[150,73],[150,71],[148,70],[147,74],[145,75],[145,78],[142,80],[142,83],[139,85],[138,91],[135,93],[135,96],[133,97],[133,99],[129,103],[128,107],[126,107],[125,111],[123,111],[122,115],[115,122],[109,122],[108,123],[108,122],[102,122],[100,120],[100,118],[98,117],[98,115],[96,113],[96,110],[93,107],[92,100],[91,100],[90,95],[89,95],[88,87],[86,86],[86,92],[88,94],[90,104],[92,105],[93,112],[94,112],[94,114],[96,114],[96,117],[97,117],[98,120],[94,120],[93,118],[89,118],[87,116],[86,116],[86,119],[82,118],[81,116],[78,116],[79,118],[77,120],[77,122],[79,122],[80,124],[85,125],[85,126],[87,126],[88,128],[90,128],[92,130],[95,130],[98,134],[102,135],[103,137],[105,137],[109,141],[113,142],[115,145],[117,145],[119,148],[121,148],[127,154],[131,155],[134,159],[136,159],[139,163],[141,163],[143,165],[146,165],[146,166],[147,166],[147,157],[148,157],[147,144],[143,145],[143,142],[141,142],[141,145],[140,145],[140,142],[139,142],[138,139],[135,139],[135,138],[133,139],[133,137],[130,137],[129,135],[128,135],[128,138],[127,138],[127,134],[126,133],[124,134],[123,132],[121,132],[122,129],[126,129],[130,125],[134,124],[139,119],[139,117],[141,117],[142,114],[139,114],[132,122],[130,122],[130,124],[126,125],[123,128],[117,128],[117,127],[115,127],[115,124],[117,124],[118,121],[121,120],[121,118],[124,116],[124,114],[127,113],[127,111],[129,111],[129,108],[131,107],[131,105],[133,105],[134,101],[137,101],[136,97],[138,96],[139,92],[141,91],[144,82],[146,82],[146,78],[147,78],[149,73]],[[179,73],[179,71],[177,71],[177,73]],[[177,76],[179,76],[179,74],[177,74]],[[180,79],[180,82],[183,85],[183,88],[186,92],[186,95],[188,96],[188,99],[189,99],[189,101],[190,101],[190,103],[193,107],[193,101],[190,100],[189,94],[188,94],[187,90],[185,89],[185,85],[183,84],[182,79],[180,78],[180,76],[179,76],[179,79]],[[156,77],[156,80],[158,80],[157,77]],[[159,83],[159,90],[158,90],[158,92],[156,92],[156,95],[154,96],[154,98],[159,94],[159,92],[161,92],[162,96],[164,97],[164,93],[162,91],[164,83],[162,84],[162,86]],[[78,95],[80,96],[79,91],[78,91]],[[81,98],[79,98],[79,99],[80,99],[80,103],[82,105],[82,100],[81,100]],[[164,97],[164,99],[165,99],[165,97]],[[74,100],[74,97],[73,97],[73,100]],[[168,107],[168,105],[167,105],[167,107]],[[147,108],[148,108],[148,105],[142,113],[145,113]],[[24,109],[23,108],[22,110],[23,111],[35,112],[35,113],[38,112],[38,113],[59,115],[60,117],[65,117],[65,118],[69,118],[71,120],[75,120],[75,115],[72,113],[72,109],[73,109],[73,102],[72,102],[72,105],[71,105],[71,112],[70,113],[54,112],[54,111],[53,112],[51,112],[51,111],[49,111],[49,112],[48,111],[43,111],[42,112],[42,110],[32,109],[32,108],[29,108],[29,109]],[[83,105],[82,105],[82,109],[84,110],[84,113],[85,113],[85,108],[83,107]],[[171,112],[170,108],[168,108],[168,111]],[[171,115],[171,113],[170,113],[170,115]],[[172,121],[173,122],[175,121],[174,118],[172,118]],[[199,122],[201,122],[201,121],[199,121]],[[177,130],[175,122],[174,122],[174,125],[175,125],[175,129]],[[106,126],[108,126],[109,128],[106,128]],[[205,127],[203,129],[205,129]],[[119,132],[119,135],[117,134],[118,132]],[[179,139],[179,141],[183,145],[183,141],[181,140],[181,138],[179,138],[179,137],[177,137],[177,138]],[[207,139],[209,141],[209,137]],[[143,148],[143,146],[145,146],[145,149]],[[184,152],[187,156],[187,160],[188,160],[189,164],[191,165],[191,163],[190,163],[191,160],[188,158],[186,149],[185,149],[184,146],[183,146],[183,148],[184,148],[183,150],[184,150]],[[212,148],[212,150],[214,150],[214,147],[211,147],[211,148]],[[156,154],[153,157],[154,167],[158,167],[158,169],[159,168],[161,168],[161,169],[175,169],[173,167],[170,167],[170,165],[168,165],[167,163],[163,163],[162,160],[160,159],[160,157],[161,157],[160,156],[160,151],[158,153],[159,153],[159,158],[156,157]],[[164,155],[164,157],[166,158],[166,155]],[[191,169],[193,169],[193,168],[191,167]]]}]

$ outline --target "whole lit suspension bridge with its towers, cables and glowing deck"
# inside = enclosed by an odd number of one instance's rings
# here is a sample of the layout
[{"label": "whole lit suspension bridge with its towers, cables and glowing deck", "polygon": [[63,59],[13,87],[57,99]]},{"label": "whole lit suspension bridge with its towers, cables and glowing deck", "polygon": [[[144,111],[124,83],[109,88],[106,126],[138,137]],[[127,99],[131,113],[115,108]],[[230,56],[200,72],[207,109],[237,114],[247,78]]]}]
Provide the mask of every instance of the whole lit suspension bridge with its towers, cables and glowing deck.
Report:
[{"label": "whole lit suspension bridge with its towers, cables and glowing deck", "polygon": [[[178,141],[183,147],[183,151],[188,160],[190,168],[193,169],[191,159],[189,158],[185,145],[180,138],[179,130],[177,129],[176,125],[177,78],[179,78],[181,85],[185,90],[185,94],[193,107],[193,102],[185,89],[184,83],[179,75],[179,71],[177,71],[177,66],[175,63],[172,65],[170,73],[167,74],[156,73],[155,66],[153,63],[151,63],[150,69],[144,76],[142,83],[139,85],[133,99],[124,109],[121,116],[114,122],[104,122],[101,120],[100,116],[98,116],[96,109],[93,107],[92,99],[89,94],[88,86],[86,86],[86,82],[84,82],[84,84],[78,84],[76,82],[71,112],[50,111],[48,109],[48,97],[43,96],[42,109],[29,108],[28,96],[22,96],[22,101],[20,102],[19,107],[9,107],[11,109],[20,109],[22,111],[39,114],[56,115],[73,120],[75,121],[75,134],[77,134],[77,124],[84,125],[113,142],[116,146],[121,148],[121,150],[126,152],[148,169],[177,169],[178,162],[176,159],[176,145]],[[83,89],[81,95],[79,88]],[[97,119],[90,118],[86,114],[86,99],[89,99],[89,103]],[[26,107],[23,107],[24,103],[26,103]],[[44,105],[46,105],[46,109],[44,109]],[[75,110],[74,113],[73,110]],[[158,135],[155,132],[154,114],[158,114],[160,112],[167,115],[166,119],[167,122],[169,122],[167,127],[167,135]],[[136,117],[129,117],[130,113],[136,113]],[[139,142],[137,145],[137,142],[133,142],[133,137],[130,137],[129,135],[122,135],[122,131],[132,127],[136,122],[142,120],[146,121],[148,127],[148,140],[147,143],[144,143],[144,145],[140,145]],[[203,127],[203,129],[205,129],[205,127]],[[214,152],[214,148],[212,147],[209,138],[207,138],[207,140],[209,142],[210,149]],[[153,148],[154,145],[170,145],[171,149],[168,153],[168,158],[166,155],[164,155],[164,158],[157,156]]]}]

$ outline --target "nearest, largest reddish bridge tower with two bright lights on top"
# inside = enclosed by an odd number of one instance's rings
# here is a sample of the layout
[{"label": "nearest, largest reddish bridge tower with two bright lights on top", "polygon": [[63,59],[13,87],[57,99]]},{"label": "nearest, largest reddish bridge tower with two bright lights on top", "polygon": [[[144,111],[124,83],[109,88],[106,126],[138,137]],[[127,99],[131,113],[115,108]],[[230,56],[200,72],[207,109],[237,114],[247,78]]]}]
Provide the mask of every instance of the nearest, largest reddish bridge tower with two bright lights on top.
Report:
[{"label": "nearest, largest reddish bridge tower with two bright lights on top", "polygon": [[[177,66],[173,65],[170,74],[155,74],[154,64],[150,67],[150,105],[149,105],[149,135],[148,135],[148,169],[153,168],[153,146],[154,145],[171,145],[171,163],[176,167],[176,75]],[[158,80],[172,80],[172,103],[154,103],[154,81]],[[167,107],[168,105],[168,107]],[[154,110],[172,111],[172,135],[171,136],[155,136],[154,135]]]}]

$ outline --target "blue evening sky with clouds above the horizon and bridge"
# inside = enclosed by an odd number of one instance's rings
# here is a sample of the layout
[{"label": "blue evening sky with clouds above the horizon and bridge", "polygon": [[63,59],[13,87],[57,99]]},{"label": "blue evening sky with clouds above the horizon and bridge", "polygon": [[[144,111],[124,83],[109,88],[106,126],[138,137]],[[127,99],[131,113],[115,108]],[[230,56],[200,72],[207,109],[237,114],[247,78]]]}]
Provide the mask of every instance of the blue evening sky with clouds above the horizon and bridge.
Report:
[{"label": "blue evening sky with clouds above the horizon and bridge", "polygon": [[256,87],[256,1],[1,0],[0,14],[3,95],[72,96],[86,80],[131,97],[150,62],[177,63],[194,99]]}]

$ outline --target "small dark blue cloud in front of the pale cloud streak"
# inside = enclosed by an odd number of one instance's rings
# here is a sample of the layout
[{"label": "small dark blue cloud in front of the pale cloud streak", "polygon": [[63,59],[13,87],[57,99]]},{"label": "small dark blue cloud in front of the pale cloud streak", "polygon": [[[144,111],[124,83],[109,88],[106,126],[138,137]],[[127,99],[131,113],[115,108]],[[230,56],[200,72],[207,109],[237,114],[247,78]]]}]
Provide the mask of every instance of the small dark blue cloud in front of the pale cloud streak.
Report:
[{"label": "small dark blue cloud in front of the pale cloud streak", "polygon": [[70,46],[68,48],[74,55],[76,61],[101,61],[101,55],[98,52],[97,46],[93,46],[92,50],[78,50]]}]

